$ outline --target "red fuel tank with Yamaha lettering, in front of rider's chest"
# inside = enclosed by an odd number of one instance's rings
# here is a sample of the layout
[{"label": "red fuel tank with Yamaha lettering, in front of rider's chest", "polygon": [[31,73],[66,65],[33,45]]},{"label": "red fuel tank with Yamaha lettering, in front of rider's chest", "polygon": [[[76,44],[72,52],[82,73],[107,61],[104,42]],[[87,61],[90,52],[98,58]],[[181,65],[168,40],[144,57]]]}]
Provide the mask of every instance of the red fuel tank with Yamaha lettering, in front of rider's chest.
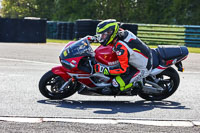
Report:
[{"label": "red fuel tank with Yamaha lettering, in front of rider's chest", "polygon": [[112,50],[113,46],[99,46],[95,50],[95,59],[105,65],[115,65],[119,63],[116,53]]}]

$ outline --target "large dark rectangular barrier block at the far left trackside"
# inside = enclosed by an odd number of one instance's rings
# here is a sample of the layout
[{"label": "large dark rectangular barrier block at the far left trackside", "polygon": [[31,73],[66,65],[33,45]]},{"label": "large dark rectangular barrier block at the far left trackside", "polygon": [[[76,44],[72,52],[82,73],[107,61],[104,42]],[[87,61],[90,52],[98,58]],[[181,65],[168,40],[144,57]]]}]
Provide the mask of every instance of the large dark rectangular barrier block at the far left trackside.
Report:
[{"label": "large dark rectangular barrier block at the far left trackside", "polygon": [[46,42],[46,20],[0,18],[0,42]]}]

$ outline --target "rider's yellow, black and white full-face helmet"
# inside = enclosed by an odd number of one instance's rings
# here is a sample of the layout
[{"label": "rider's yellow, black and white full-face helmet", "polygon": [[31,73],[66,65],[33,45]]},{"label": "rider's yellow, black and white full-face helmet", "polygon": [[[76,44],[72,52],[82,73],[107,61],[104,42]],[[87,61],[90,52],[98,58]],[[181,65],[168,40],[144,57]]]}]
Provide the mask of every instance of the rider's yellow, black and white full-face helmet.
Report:
[{"label": "rider's yellow, black and white full-face helmet", "polygon": [[116,37],[119,25],[115,19],[104,20],[97,25],[96,36],[101,45],[107,46]]}]

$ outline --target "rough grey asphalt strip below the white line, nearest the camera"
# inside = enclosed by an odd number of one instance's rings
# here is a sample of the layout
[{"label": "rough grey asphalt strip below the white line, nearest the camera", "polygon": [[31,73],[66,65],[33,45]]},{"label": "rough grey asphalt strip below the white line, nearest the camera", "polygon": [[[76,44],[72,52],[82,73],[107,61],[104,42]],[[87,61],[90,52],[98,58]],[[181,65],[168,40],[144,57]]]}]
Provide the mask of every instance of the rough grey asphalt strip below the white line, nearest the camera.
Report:
[{"label": "rough grey asphalt strip below the white line, nearest the camera", "polygon": [[199,133],[200,127],[161,127],[140,124],[80,124],[65,122],[0,122],[1,133]]}]

